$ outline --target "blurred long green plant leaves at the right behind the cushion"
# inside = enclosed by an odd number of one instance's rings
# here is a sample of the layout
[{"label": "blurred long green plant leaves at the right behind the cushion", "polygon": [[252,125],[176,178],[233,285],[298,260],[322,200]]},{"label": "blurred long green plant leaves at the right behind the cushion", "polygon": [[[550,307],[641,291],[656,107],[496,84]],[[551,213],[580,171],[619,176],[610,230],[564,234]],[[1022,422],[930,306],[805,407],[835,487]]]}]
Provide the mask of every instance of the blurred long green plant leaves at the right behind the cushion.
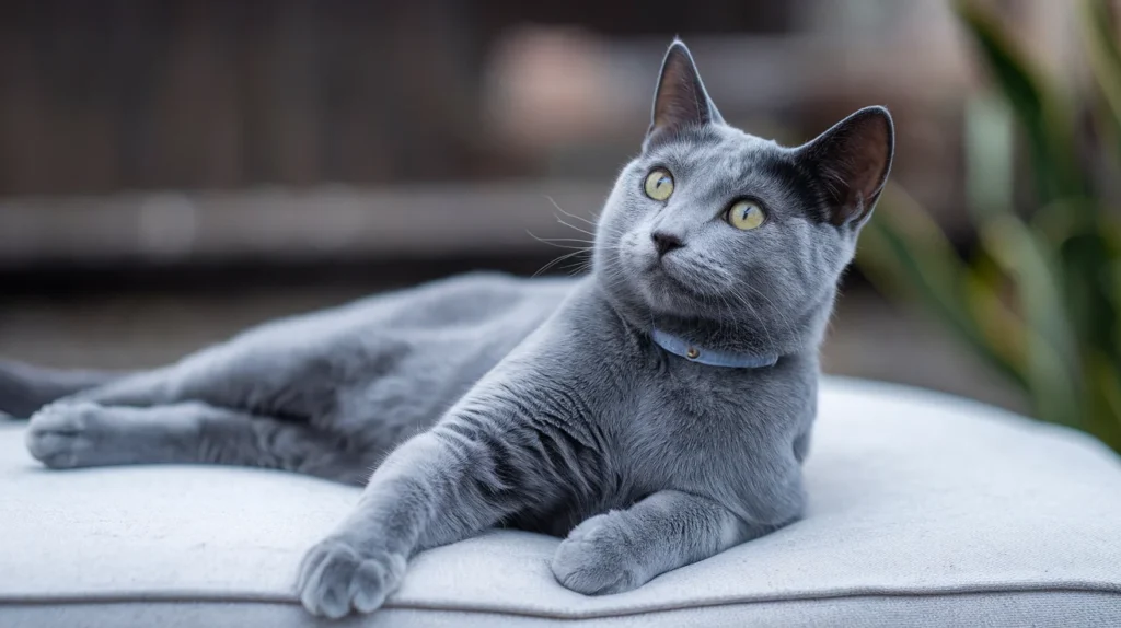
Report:
[{"label": "blurred long green plant leaves at the right behind the cushion", "polygon": [[[1121,53],[1108,0],[1076,7],[1093,78],[1081,92],[1047,76],[981,3],[954,8],[993,85],[965,110],[976,246],[955,250],[892,186],[859,263],[1009,377],[1037,418],[1121,452],[1121,219],[1109,191],[1121,181]],[[1027,215],[1017,171],[1032,184]]]}]

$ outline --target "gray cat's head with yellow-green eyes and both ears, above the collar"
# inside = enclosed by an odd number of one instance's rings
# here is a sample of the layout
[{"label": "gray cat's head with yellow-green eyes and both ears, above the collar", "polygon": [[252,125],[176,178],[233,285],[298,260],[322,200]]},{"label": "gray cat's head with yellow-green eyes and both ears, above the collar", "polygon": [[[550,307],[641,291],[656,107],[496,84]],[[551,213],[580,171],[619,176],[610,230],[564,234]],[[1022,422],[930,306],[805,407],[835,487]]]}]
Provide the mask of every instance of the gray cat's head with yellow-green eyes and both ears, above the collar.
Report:
[{"label": "gray cat's head with yellow-green eyes and both ears, above the collar", "polygon": [[802,348],[821,335],[892,152],[882,107],[796,148],[729,126],[675,41],[642,151],[596,229],[596,280],[636,322],[725,346]]}]

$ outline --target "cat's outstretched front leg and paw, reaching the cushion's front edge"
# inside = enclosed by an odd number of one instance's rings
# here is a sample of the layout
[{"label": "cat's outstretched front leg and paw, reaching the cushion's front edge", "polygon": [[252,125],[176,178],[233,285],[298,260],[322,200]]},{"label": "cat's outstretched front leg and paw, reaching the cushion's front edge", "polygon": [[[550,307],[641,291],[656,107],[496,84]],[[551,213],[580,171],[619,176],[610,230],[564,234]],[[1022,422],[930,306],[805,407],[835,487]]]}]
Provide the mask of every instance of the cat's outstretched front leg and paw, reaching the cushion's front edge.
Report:
[{"label": "cat's outstretched front leg and paw, reaching the cushion's front edge", "polygon": [[472,423],[442,422],[374,471],[358,508],[300,565],[297,591],[309,611],[371,612],[400,584],[414,553],[555,499],[548,465],[525,439]]}]

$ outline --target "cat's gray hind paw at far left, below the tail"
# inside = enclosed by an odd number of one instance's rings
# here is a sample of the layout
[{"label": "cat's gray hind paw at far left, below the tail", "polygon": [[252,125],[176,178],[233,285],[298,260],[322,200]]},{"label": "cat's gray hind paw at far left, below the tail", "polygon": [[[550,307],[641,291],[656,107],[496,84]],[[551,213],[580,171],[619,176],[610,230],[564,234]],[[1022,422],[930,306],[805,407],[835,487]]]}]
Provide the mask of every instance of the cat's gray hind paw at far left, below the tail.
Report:
[{"label": "cat's gray hind paw at far left, below the tail", "polygon": [[94,448],[102,410],[89,402],[56,402],[39,409],[27,428],[27,450],[52,469],[82,466]]}]

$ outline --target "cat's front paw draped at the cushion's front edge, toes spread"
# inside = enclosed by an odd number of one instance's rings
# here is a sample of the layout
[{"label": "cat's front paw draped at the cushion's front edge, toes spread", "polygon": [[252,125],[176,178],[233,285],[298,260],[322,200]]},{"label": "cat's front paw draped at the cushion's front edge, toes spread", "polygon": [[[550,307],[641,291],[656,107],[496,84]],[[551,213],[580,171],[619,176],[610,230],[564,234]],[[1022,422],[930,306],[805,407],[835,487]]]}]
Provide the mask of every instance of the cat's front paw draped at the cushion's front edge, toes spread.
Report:
[{"label": "cat's front paw draped at the cushion's front edge, toes spread", "polygon": [[380,550],[359,551],[339,537],[322,541],[299,568],[299,601],[313,615],[339,619],[351,609],[373,612],[401,583],[405,556]]}]

